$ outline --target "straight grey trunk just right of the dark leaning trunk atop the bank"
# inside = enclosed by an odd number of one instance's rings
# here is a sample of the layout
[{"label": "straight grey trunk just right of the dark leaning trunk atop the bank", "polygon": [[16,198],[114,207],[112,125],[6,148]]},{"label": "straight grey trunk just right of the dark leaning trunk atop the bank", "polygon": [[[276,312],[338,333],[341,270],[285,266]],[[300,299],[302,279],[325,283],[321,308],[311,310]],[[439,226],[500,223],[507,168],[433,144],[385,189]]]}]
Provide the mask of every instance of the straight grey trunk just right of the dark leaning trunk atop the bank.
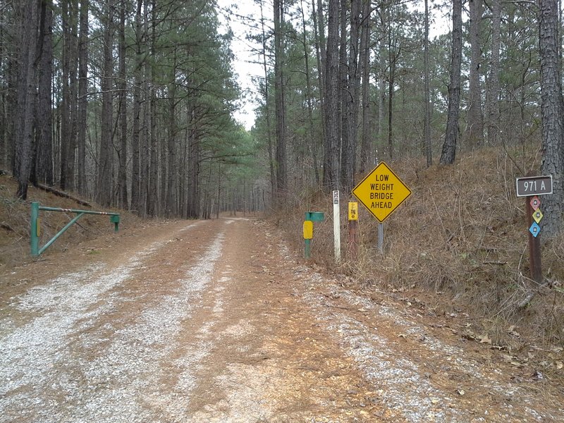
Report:
[{"label": "straight grey trunk just right of the dark leaning trunk atop the bank", "polygon": [[482,0],[470,3],[470,90],[465,138],[469,145],[484,144],[484,118],[482,116],[482,87],[480,87],[480,26],[482,24]]}]

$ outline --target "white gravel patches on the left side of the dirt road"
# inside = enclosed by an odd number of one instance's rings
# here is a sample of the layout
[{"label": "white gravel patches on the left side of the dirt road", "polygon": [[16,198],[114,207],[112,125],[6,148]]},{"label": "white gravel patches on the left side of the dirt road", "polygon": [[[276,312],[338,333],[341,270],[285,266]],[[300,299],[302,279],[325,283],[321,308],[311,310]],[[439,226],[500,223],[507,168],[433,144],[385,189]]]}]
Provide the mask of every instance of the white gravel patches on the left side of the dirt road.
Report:
[{"label": "white gravel patches on the left side of the dirt road", "polygon": [[[209,345],[182,350],[178,337],[212,278],[223,235],[184,269],[178,292],[159,298],[121,329],[98,323],[130,301],[109,290],[165,246],[156,243],[118,268],[91,266],[11,299],[0,319],[0,422],[181,421],[192,372]],[[32,317],[17,326],[11,316],[23,313]],[[160,386],[171,375],[161,360],[179,350],[183,354],[172,366],[180,377],[165,395]]]}]

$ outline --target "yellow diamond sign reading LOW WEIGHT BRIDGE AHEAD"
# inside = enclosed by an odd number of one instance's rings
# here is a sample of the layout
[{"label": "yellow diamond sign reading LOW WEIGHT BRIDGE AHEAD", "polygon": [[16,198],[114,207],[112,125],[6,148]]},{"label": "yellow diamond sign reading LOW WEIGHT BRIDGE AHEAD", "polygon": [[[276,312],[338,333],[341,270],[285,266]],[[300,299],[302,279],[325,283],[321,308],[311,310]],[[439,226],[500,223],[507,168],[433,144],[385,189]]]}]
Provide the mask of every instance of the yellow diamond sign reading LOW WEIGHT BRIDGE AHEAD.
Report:
[{"label": "yellow diamond sign reading LOW WEIGHT BRIDGE AHEAD", "polygon": [[353,194],[379,222],[383,222],[411,195],[411,190],[381,161],[353,188]]}]

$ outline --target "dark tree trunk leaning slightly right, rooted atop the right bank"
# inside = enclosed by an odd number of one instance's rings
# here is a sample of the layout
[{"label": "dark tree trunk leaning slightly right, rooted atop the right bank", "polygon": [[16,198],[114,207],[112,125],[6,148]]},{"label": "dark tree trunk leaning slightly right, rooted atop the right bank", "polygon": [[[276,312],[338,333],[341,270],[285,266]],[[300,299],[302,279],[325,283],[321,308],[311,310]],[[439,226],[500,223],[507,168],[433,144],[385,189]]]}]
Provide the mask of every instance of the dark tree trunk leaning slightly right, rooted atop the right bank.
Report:
[{"label": "dark tree trunk leaning slightly right, rooted atop the right bank", "polygon": [[450,55],[450,85],[448,86],[448,116],[441,164],[453,164],[458,138],[460,104],[460,65],[462,63],[462,0],[453,0],[453,50]]}]

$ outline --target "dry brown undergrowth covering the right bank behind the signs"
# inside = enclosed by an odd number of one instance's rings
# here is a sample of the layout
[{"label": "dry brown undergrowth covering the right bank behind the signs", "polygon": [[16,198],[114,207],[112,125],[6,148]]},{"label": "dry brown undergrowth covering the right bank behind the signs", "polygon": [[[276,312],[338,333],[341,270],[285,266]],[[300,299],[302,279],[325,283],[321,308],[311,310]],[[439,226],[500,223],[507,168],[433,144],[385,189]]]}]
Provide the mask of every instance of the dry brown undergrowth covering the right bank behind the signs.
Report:
[{"label": "dry brown undergrowth covering the right bank behind the signs", "polygon": [[348,257],[346,203],[356,199],[343,192],[341,265],[333,259],[329,195],[297,196],[293,212],[278,216],[295,247],[303,249],[304,212],[325,212],[325,221],[314,223],[312,262],[353,276],[359,289],[406,302],[416,297],[431,314],[465,316],[462,336],[482,342],[485,334],[486,342],[534,358],[546,373],[561,368],[564,233],[543,237],[545,283],[537,285],[529,277],[525,200],[515,195],[515,178],[540,167],[537,152],[482,149],[462,154],[453,166],[426,168],[415,159],[388,164],[412,196],[384,223],[384,254],[377,249],[377,221],[360,206],[358,257]]}]

